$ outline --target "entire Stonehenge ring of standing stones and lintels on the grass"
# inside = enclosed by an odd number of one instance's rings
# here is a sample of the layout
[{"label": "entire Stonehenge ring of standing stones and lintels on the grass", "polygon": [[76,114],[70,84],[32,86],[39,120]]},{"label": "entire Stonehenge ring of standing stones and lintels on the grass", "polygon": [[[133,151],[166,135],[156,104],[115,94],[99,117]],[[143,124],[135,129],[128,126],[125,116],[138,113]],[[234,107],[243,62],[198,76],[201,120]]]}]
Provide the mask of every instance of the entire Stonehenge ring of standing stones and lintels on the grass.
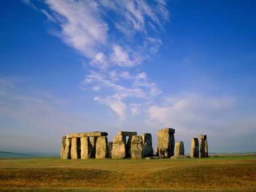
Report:
[{"label": "entire Stonehenge ring of standing stones and lintels on the grass", "polygon": [[[184,155],[184,143],[175,143],[174,128],[163,128],[157,132],[157,147],[152,148],[151,133],[118,131],[113,141],[108,142],[107,132],[73,133],[61,138],[60,156],[63,159],[88,158],[189,158]],[[156,156],[156,157],[154,157]],[[207,135],[191,139],[190,158],[208,157]]]}]

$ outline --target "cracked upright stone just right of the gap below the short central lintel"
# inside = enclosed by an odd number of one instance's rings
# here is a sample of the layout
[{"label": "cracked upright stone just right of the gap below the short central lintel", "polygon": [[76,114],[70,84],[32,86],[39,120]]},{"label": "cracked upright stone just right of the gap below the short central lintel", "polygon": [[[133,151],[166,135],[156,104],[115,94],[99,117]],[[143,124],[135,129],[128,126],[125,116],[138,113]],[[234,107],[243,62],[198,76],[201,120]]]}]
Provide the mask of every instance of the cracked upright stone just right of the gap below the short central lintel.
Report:
[{"label": "cracked upright stone just right of the gap below the short central lintel", "polygon": [[143,158],[142,136],[134,135],[131,138],[131,158]]}]

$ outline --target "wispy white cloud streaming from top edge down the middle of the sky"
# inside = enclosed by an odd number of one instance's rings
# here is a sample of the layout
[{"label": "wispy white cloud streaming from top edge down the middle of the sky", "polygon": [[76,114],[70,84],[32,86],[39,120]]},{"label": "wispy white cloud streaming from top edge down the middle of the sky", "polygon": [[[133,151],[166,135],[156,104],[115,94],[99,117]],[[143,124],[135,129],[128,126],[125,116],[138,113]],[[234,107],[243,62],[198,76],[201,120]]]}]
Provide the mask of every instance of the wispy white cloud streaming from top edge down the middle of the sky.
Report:
[{"label": "wispy white cloud streaming from top edge down the middle of the sky", "polygon": [[[33,5],[31,1],[25,1]],[[139,107],[160,94],[145,72],[134,73],[163,45],[159,34],[168,22],[164,0],[46,0],[41,12],[60,27],[55,33],[88,59],[90,70],[80,85],[96,91],[95,101],[108,105],[121,119],[139,114]],[[139,40],[138,40],[139,39]],[[139,98],[139,103],[127,98]],[[138,101],[137,101],[138,102]],[[135,107],[136,106],[136,107]]]}]

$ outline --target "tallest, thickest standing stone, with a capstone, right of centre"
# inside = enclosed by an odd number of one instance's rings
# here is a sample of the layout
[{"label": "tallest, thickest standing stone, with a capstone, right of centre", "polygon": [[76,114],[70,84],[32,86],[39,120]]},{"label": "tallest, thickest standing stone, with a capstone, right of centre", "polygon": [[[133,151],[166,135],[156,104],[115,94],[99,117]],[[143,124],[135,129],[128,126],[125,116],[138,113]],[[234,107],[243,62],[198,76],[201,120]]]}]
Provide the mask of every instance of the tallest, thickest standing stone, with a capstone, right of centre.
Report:
[{"label": "tallest, thickest standing stone, with a capstone, right of centre", "polygon": [[160,157],[171,157],[174,155],[175,130],[173,128],[164,128],[158,130],[157,145]]}]

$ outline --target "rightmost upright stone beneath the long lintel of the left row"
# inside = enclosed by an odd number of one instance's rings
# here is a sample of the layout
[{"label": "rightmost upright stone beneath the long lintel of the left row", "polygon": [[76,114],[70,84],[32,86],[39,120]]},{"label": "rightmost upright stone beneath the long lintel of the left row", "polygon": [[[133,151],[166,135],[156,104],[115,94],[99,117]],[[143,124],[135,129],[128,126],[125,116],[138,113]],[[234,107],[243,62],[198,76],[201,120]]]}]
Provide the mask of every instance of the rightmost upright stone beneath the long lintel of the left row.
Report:
[{"label": "rightmost upright stone beneath the long lintel of the left row", "polygon": [[96,158],[108,158],[108,138],[106,136],[97,137]]}]

